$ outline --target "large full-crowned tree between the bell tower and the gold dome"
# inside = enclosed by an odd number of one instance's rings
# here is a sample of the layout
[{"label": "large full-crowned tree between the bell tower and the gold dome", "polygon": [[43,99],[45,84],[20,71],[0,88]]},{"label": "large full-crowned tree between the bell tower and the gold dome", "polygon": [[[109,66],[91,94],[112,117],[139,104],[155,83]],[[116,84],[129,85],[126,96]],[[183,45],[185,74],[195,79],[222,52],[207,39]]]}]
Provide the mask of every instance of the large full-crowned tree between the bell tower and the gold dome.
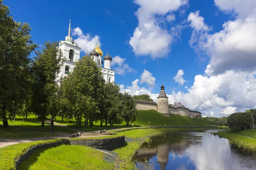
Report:
[{"label": "large full-crowned tree between the bell tower and the gold dome", "polygon": [[70,104],[70,113],[77,119],[79,128],[82,118],[84,122],[90,121],[90,127],[98,119],[104,83],[101,69],[87,56],[77,61],[73,72],[63,80],[62,95]]}]

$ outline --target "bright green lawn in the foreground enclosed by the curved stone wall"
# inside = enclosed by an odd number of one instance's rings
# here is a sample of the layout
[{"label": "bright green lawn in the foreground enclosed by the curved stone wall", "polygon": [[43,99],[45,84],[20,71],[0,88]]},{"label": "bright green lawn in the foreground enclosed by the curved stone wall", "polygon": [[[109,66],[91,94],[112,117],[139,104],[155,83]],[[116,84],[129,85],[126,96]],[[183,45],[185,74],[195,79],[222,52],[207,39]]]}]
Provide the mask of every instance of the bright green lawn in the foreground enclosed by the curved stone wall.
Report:
[{"label": "bright green lawn in the foreground enclosed by the curved stone wall", "polygon": [[20,164],[20,170],[111,170],[114,164],[104,161],[105,153],[91,147],[61,145],[33,153]]}]

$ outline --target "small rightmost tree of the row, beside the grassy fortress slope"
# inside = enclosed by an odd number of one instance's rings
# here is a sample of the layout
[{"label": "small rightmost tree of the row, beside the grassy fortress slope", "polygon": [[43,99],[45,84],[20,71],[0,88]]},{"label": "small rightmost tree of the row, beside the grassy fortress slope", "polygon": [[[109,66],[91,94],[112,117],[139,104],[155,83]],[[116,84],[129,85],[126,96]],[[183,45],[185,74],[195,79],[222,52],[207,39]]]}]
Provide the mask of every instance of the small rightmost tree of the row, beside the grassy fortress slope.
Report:
[{"label": "small rightmost tree of the row, beside the grassy fortress slope", "polygon": [[136,103],[134,102],[133,97],[124,93],[121,94],[122,98],[122,117],[126,121],[126,125],[129,126],[130,122],[134,122],[136,120],[136,116],[138,115],[136,109]]}]

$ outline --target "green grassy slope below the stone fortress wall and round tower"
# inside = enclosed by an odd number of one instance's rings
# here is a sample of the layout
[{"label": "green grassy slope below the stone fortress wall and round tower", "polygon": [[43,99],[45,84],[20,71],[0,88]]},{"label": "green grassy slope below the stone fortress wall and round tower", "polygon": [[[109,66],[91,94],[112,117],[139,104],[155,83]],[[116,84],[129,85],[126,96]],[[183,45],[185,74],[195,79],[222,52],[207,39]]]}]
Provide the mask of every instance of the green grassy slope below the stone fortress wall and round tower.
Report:
[{"label": "green grassy slope below the stone fortress wall and round tower", "polygon": [[171,114],[170,117],[166,117],[154,110],[138,111],[138,113],[136,121],[133,122],[134,126],[148,126],[148,121],[150,121],[150,126],[163,126],[164,124],[166,124],[166,126],[211,126],[203,119],[191,119],[187,116],[175,114]]}]

